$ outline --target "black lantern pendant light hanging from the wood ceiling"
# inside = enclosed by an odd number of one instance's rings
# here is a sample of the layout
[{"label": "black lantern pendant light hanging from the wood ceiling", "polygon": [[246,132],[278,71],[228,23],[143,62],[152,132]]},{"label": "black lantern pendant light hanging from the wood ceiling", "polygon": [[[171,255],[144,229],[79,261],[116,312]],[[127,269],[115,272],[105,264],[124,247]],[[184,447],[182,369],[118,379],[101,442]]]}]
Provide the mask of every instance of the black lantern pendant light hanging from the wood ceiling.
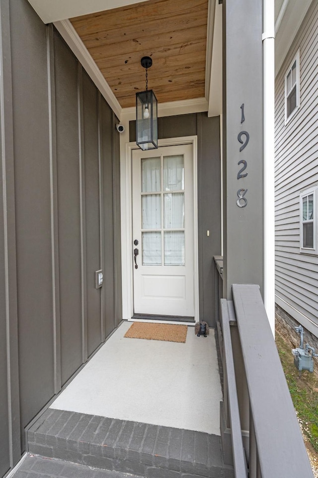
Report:
[{"label": "black lantern pendant light hanging from the wood ceiling", "polygon": [[148,90],[148,68],[153,64],[149,56],[141,59],[146,68],[146,91],[136,93],[136,143],[143,149],[158,148],[157,98],[153,90]]}]

